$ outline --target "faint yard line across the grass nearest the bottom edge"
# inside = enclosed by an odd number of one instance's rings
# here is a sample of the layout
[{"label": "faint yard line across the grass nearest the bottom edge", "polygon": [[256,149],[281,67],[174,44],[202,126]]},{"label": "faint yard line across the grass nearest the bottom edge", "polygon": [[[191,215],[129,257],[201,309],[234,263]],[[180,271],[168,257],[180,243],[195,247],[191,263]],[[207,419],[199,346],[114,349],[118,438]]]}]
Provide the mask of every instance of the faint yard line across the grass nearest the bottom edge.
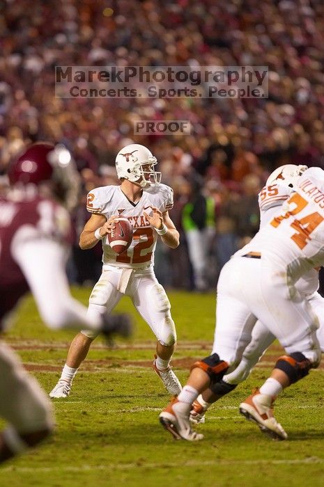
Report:
[{"label": "faint yard line across the grass nearest the bottom edge", "polygon": [[[205,461],[185,461],[183,462],[183,467],[201,467],[201,466],[217,466],[217,465],[310,465],[310,464],[323,464],[324,458],[318,458],[318,456],[309,456],[308,458],[292,458],[291,460],[288,459],[278,459],[278,460],[270,460],[269,458],[260,458],[259,460],[220,460],[219,458],[215,460],[205,460]],[[116,469],[116,470],[125,470],[125,469],[133,469],[133,468],[140,468],[141,466],[144,468],[161,468],[161,463],[143,463],[142,465],[138,465],[138,463],[109,463],[109,469]],[[178,463],[167,463],[164,461],[163,466],[171,468],[178,468]],[[29,473],[29,472],[87,472],[91,470],[107,470],[107,465],[82,465],[80,467],[73,467],[72,465],[58,465],[57,467],[17,467],[12,465],[10,467],[1,468],[1,472],[21,472],[21,473]]]}]

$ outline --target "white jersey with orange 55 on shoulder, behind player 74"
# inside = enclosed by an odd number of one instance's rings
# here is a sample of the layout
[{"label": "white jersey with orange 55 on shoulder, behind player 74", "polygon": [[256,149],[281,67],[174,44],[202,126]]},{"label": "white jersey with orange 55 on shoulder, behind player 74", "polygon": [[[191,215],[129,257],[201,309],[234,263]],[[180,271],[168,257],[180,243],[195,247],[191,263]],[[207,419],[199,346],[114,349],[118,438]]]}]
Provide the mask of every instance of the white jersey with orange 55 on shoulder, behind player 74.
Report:
[{"label": "white jersey with orange 55 on shoulder, behind player 74", "polygon": [[[272,221],[278,214],[278,207],[281,210],[287,210],[285,201],[295,192],[295,189],[290,188],[282,182],[276,182],[271,186],[264,186],[259,193],[259,208],[260,208],[260,228],[263,228],[267,223]],[[284,205],[284,206],[282,206]],[[296,282],[298,291],[307,296],[314,294],[318,290],[318,270],[311,269],[304,274],[302,278]]]}]

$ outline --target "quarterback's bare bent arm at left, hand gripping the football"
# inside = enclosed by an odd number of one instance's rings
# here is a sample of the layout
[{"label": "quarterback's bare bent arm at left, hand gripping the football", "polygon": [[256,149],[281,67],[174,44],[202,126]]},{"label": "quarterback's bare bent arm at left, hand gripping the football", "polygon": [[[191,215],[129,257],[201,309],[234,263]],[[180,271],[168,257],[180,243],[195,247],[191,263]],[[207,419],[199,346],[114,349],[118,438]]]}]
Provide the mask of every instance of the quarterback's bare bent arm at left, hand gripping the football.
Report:
[{"label": "quarterback's bare bent arm at left, hand gripping the football", "polygon": [[[93,248],[98,241],[105,237],[110,232],[111,228],[115,227],[114,219],[118,216],[111,216],[107,221],[106,217],[101,214],[92,214],[84,225],[82,234],[79,239],[79,246],[82,250]],[[98,230],[98,232],[96,232]]]}]

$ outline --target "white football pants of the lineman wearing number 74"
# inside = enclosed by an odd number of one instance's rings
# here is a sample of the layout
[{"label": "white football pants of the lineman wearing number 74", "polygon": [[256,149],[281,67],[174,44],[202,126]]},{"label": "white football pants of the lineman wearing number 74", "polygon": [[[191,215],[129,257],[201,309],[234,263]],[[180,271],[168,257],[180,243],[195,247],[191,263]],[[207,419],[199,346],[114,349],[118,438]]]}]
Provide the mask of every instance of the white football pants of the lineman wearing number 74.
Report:
[{"label": "white football pants of the lineman wearing number 74", "polygon": [[[282,269],[266,258],[240,256],[232,257],[223,267],[217,286],[213,353],[229,363],[229,372],[239,364],[258,319],[286,353],[299,351],[315,367],[321,360],[318,318],[298,290],[288,287]],[[271,342],[267,336],[263,346]]]}]

